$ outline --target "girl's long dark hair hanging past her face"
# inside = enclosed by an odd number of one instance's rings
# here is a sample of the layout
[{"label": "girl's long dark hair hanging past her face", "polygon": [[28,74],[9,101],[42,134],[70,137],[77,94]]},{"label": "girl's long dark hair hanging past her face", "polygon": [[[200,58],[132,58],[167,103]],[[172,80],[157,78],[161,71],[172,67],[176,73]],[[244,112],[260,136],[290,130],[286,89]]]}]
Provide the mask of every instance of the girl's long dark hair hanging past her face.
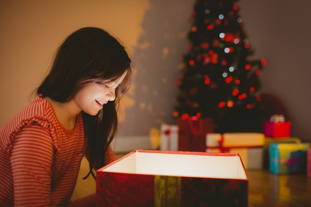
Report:
[{"label": "girl's long dark hair hanging past her face", "polygon": [[85,83],[110,83],[125,78],[116,89],[116,100],[109,101],[97,115],[81,112],[84,136],[88,138],[90,174],[105,165],[104,155],[117,133],[117,108],[120,97],[131,84],[131,60],[121,43],[108,32],[95,27],[81,28],[59,47],[52,68],[37,88],[37,94],[58,102],[73,99]]}]

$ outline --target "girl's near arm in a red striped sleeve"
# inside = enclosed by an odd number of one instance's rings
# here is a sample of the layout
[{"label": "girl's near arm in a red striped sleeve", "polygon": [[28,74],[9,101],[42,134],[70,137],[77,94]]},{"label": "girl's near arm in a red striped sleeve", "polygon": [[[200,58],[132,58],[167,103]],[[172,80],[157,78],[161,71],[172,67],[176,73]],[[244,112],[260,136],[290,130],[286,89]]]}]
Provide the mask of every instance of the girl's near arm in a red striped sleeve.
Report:
[{"label": "girl's near arm in a red striped sleeve", "polygon": [[25,126],[14,139],[11,165],[14,207],[51,207],[53,140],[40,125]]}]

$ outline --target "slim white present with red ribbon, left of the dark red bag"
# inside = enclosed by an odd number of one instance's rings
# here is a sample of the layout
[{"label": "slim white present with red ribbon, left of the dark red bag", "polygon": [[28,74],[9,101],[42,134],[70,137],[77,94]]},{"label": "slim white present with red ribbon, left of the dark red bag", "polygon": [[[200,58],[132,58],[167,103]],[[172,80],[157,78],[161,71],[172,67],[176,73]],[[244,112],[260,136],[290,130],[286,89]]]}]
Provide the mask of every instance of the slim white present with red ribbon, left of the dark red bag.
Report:
[{"label": "slim white present with red ribbon, left of the dark red bag", "polygon": [[161,144],[160,150],[178,150],[178,127],[177,125],[161,125],[160,128]]}]

